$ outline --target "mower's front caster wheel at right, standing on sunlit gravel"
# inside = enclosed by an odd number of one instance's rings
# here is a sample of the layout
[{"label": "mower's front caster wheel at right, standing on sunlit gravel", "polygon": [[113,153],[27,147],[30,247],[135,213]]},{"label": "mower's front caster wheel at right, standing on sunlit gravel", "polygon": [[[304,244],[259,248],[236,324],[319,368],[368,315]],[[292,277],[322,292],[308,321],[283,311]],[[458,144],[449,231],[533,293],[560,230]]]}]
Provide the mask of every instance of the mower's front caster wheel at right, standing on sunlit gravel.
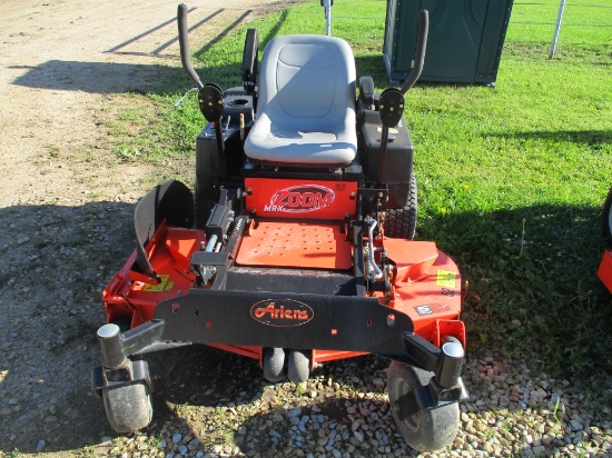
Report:
[{"label": "mower's front caster wheel at right, standing on sunlit gravel", "polygon": [[418,451],[440,450],[453,442],[458,430],[460,409],[457,402],[434,409],[422,410],[405,419],[397,411],[397,400],[418,387],[425,387],[433,372],[393,361],[387,372],[387,389],[391,411],[404,440]]}]

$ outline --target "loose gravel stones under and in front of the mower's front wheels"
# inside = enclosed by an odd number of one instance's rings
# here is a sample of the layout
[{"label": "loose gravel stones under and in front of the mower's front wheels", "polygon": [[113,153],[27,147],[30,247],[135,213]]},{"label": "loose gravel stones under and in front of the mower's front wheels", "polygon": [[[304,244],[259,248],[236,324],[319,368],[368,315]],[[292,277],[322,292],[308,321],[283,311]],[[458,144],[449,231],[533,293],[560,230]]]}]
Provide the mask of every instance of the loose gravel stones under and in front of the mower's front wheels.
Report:
[{"label": "loose gravel stones under and in front of the mower's front wheels", "polygon": [[[174,357],[171,367],[161,358],[152,365],[167,370],[156,396],[156,404],[166,402],[166,419],[141,434],[102,438],[96,454],[418,456],[391,417],[384,360],[329,364],[296,387],[264,382],[256,364],[216,350]],[[493,357],[468,360],[465,378],[472,396],[461,406],[455,441],[422,456],[611,456],[610,407],[586,407],[576,381],[534,376],[525,361]]]}]

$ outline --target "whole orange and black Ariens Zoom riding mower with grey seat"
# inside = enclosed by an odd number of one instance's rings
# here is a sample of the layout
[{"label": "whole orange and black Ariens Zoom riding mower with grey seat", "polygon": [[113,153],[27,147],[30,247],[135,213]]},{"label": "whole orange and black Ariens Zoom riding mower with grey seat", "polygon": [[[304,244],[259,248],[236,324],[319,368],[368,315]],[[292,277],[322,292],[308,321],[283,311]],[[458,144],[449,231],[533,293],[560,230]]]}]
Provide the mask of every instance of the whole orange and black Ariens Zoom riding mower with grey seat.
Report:
[{"label": "whole orange and black Ariens Zoom riding mower with grey seat", "polygon": [[151,376],[142,355],[204,344],[259,361],[270,381],[306,381],[317,364],[389,359],[397,428],[417,450],[450,445],[465,327],[461,277],[431,241],[414,241],[417,188],[404,93],[356,81],[339,38],[284,36],[265,49],[249,29],[243,87],[203,84],[178,9],[182,64],[208,121],[196,186],[167,181],[137,205],[137,247],[103,290],[102,365],[92,371],[111,427],[146,427]]}]

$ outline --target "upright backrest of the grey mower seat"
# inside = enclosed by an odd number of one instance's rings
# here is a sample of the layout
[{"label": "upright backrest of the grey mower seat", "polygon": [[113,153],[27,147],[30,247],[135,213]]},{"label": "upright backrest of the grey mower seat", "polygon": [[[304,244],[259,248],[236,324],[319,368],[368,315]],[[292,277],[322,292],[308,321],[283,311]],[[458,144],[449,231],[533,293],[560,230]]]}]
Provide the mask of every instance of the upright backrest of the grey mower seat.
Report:
[{"label": "upright backrest of the grey mower seat", "polygon": [[342,39],[284,36],[264,52],[258,113],[272,123],[317,130],[345,122],[355,106],[355,60]]}]

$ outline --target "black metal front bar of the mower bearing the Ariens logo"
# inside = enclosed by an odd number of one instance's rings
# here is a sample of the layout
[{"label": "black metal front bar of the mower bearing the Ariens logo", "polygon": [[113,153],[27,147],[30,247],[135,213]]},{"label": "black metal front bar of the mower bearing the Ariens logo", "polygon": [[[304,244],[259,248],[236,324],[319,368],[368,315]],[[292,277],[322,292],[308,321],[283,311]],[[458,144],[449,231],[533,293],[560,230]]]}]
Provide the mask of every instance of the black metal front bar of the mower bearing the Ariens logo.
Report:
[{"label": "black metal front bar of the mower bearing the Ariens logo", "polygon": [[162,339],[401,352],[412,320],[374,298],[191,289],[159,303]]}]

